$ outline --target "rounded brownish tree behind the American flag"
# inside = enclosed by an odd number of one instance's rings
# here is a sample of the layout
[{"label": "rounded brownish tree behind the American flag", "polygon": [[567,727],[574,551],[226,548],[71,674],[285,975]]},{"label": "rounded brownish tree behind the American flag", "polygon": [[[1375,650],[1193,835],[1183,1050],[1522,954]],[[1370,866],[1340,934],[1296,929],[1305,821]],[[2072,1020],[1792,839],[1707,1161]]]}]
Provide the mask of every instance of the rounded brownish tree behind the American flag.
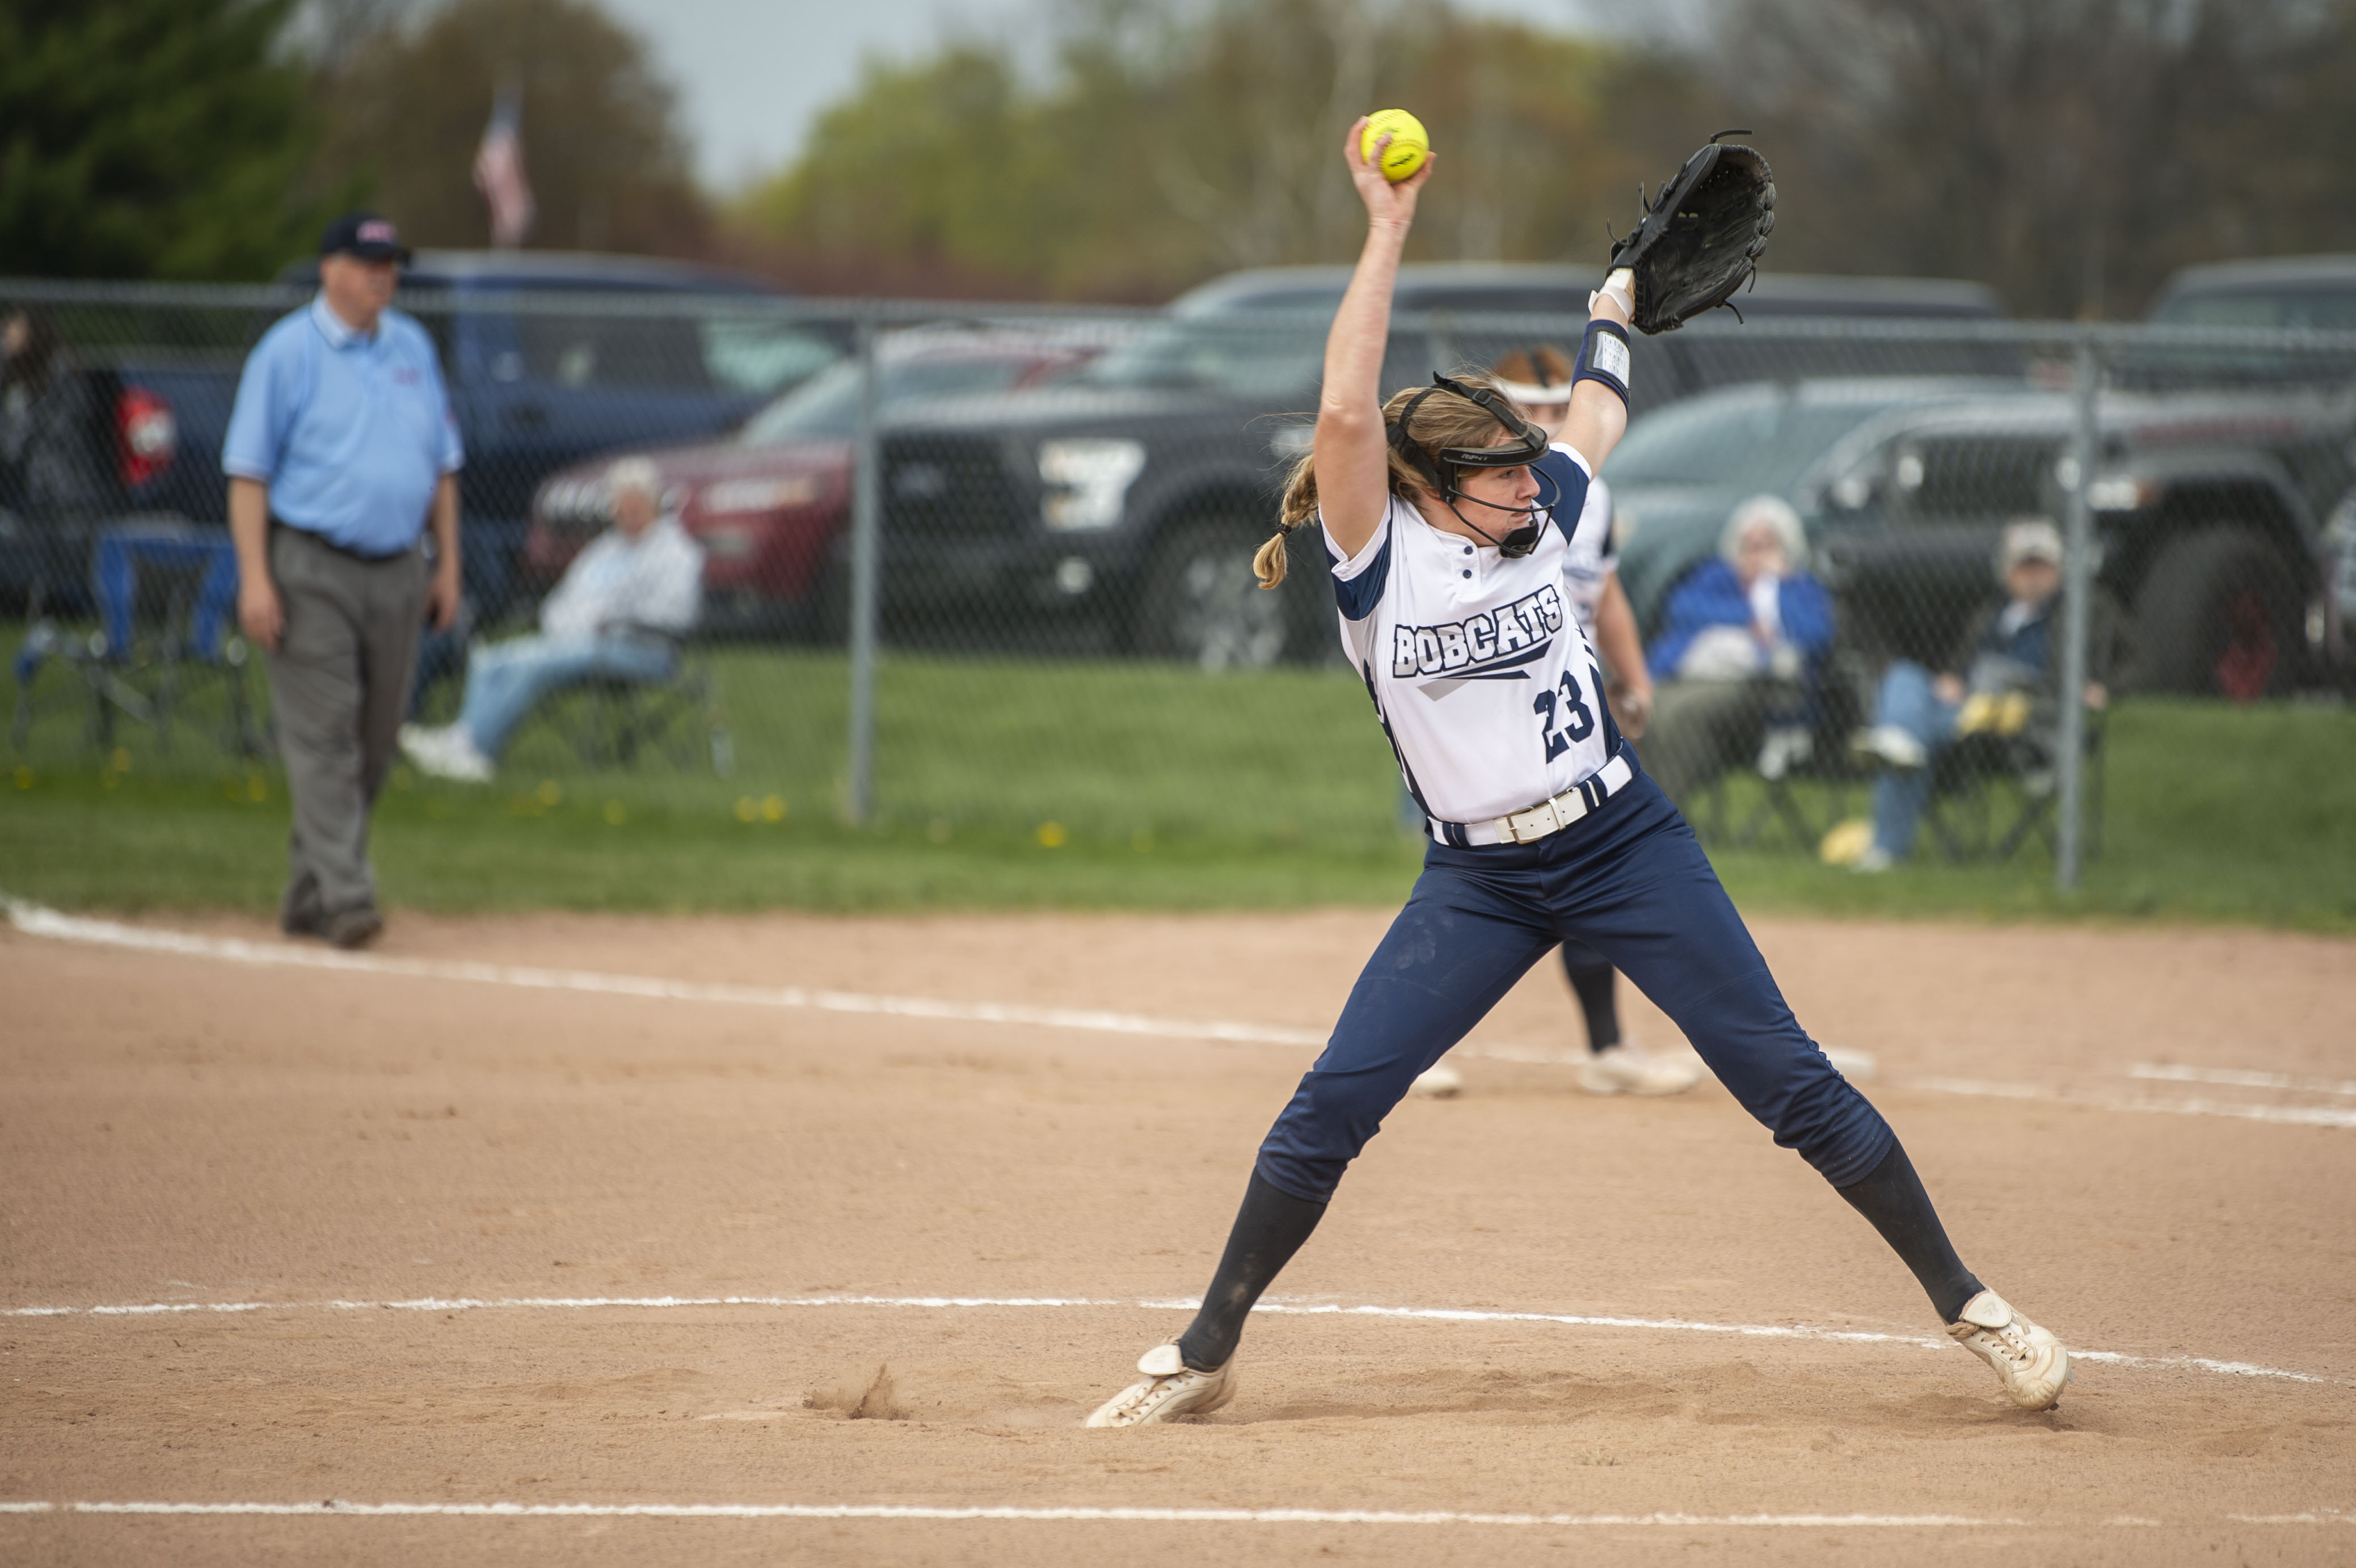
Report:
[{"label": "rounded brownish tree behind the American flag", "polygon": [[[700,254],[709,212],[671,87],[589,0],[464,0],[344,42],[323,64],[318,167],[363,179],[419,245],[488,245],[474,155],[502,85],[523,94],[523,165],[556,250]],[[363,7],[365,14],[365,7]]]}]

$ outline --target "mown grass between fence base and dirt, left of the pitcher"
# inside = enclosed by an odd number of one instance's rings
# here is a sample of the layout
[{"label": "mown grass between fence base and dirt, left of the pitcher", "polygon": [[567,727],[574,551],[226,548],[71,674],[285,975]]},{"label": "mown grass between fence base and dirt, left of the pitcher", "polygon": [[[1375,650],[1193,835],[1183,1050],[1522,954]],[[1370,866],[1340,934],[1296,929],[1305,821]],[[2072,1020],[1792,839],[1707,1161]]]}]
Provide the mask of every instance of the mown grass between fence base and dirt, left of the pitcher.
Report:
[{"label": "mown grass between fence base and dirt, left of the pitcher", "polygon": [[[243,786],[240,786],[243,789]],[[0,888],[75,909],[276,909],[285,796],[184,782],[0,782]],[[408,909],[1237,909],[1404,897],[1416,848],[1251,848],[933,826],[737,822],[598,793],[459,798],[412,784],[377,810],[386,904]]]}]

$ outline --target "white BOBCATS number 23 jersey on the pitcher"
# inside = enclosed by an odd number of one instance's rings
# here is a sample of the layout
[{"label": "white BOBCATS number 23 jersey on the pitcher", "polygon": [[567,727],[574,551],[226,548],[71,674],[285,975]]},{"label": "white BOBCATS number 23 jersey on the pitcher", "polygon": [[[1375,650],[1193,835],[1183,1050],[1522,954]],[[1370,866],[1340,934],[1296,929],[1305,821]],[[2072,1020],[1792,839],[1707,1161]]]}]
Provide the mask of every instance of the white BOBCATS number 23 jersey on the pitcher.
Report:
[{"label": "white BOBCATS number 23 jersey on the pitcher", "polygon": [[1440,532],[1399,497],[1355,556],[1326,537],[1343,650],[1440,843],[1472,843],[1468,824],[1560,796],[1619,751],[1564,591],[1562,518],[1583,516],[1588,466],[1560,445],[1531,466],[1560,494],[1520,560]]}]

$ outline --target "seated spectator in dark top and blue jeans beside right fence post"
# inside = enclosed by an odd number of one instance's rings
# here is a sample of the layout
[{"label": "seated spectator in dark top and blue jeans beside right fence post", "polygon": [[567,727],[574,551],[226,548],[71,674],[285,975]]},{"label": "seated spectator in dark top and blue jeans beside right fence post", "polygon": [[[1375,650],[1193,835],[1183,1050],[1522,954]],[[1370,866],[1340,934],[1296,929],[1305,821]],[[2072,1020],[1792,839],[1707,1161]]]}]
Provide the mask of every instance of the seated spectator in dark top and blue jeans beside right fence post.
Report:
[{"label": "seated spectator in dark top and blue jeans beside right fence post", "polygon": [[[2045,518],[2005,527],[1996,551],[1996,596],[1937,676],[1899,659],[1882,673],[1873,727],[1854,749],[1882,763],[1873,784],[1873,843],[1859,871],[1887,871],[1913,852],[1939,756],[1965,735],[2021,735],[2059,725],[2062,534]],[[2087,600],[2085,704],[2111,702],[2111,671],[2125,659],[2125,619],[2111,596]]]}]

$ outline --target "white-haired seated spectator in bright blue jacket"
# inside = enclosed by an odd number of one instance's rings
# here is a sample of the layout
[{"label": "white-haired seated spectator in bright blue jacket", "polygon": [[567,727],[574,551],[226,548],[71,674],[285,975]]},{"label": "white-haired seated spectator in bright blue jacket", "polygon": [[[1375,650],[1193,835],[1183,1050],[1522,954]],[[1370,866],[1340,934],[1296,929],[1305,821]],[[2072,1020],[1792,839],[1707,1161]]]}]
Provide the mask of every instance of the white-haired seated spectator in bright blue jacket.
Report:
[{"label": "white-haired seated spectator in bright blue jacket", "polygon": [[1746,758],[1779,777],[1807,756],[1833,598],[1800,567],[1805,558],[1800,513],[1760,494],[1727,518],[1718,560],[1668,591],[1649,657],[1652,730],[1637,751],[1670,800]]}]

